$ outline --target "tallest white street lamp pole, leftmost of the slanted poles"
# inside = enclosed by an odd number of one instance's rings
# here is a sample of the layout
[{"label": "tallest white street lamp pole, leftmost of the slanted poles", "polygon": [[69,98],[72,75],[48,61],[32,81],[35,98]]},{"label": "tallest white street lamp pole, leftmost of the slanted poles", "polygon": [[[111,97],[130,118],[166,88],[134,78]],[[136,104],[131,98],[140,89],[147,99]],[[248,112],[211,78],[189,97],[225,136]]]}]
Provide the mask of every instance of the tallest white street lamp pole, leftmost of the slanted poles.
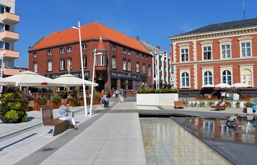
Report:
[{"label": "tallest white street lamp pole, leftmost of the slanted poles", "polygon": [[81,62],[81,74],[82,74],[82,86],[83,86],[83,97],[84,97],[84,106],[85,106],[85,115],[87,115],[87,98],[86,98],[86,91],[85,91],[85,75],[84,75],[84,67],[83,67],[83,58],[82,58],[82,47],[81,47],[81,32],[80,32],[80,21],[78,21],[78,28],[71,27],[73,29],[78,30],[78,36],[80,38],[80,62]]}]

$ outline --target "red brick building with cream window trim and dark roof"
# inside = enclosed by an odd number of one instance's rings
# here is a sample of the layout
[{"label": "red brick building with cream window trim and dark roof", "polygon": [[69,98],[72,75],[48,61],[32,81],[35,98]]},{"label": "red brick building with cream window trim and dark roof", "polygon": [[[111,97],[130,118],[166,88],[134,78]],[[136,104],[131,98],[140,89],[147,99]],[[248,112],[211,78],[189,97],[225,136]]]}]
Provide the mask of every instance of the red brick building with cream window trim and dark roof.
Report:
[{"label": "red brick building with cream window trim and dark roof", "polygon": [[255,94],[257,85],[257,19],[206,25],[171,36],[175,88],[201,90],[205,85],[244,83]]}]

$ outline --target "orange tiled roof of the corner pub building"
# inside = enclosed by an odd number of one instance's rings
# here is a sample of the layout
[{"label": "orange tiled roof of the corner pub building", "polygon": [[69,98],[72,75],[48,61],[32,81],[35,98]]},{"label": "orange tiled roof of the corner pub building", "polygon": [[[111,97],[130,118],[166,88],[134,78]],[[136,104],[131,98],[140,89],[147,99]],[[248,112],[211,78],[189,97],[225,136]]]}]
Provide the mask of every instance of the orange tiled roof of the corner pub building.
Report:
[{"label": "orange tiled roof of the corner pub building", "polygon": [[[80,26],[80,31],[82,41],[88,39],[100,39],[100,36],[102,36],[102,39],[114,41],[148,54],[148,51],[144,47],[142,47],[142,45],[137,43],[137,41],[133,39],[131,36],[126,36],[125,34],[108,28],[98,22],[82,25]],[[33,47],[31,47],[30,51],[38,50],[45,47],[51,47],[55,45],[62,45],[65,43],[73,43],[78,40],[78,30],[69,28],[67,30],[61,30],[59,32],[49,34],[48,36],[44,37],[41,41],[38,41],[38,43],[36,43]]]}]

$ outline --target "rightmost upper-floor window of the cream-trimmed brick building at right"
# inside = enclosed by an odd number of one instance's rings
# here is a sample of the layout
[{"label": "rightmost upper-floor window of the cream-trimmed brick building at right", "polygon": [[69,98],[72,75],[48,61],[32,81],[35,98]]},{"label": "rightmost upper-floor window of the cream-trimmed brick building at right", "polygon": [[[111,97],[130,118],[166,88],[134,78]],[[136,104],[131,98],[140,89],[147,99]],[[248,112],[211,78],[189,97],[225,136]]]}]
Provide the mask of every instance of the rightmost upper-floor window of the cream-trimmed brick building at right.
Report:
[{"label": "rightmost upper-floor window of the cream-trimmed brick building at right", "polygon": [[252,36],[243,36],[238,39],[241,48],[241,57],[251,57],[252,56]]}]

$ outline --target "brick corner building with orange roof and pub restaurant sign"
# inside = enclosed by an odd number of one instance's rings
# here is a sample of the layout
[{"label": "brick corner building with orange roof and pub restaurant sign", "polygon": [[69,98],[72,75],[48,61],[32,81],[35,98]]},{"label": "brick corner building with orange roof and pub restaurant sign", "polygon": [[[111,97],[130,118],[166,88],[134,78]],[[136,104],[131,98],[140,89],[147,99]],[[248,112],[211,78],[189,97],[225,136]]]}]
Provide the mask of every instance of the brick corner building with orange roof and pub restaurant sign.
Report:
[{"label": "brick corner building with orange roof and pub restaurant sign", "polygon": [[[80,31],[87,80],[93,75],[94,50],[98,54],[94,78],[98,91],[137,90],[142,83],[153,87],[152,55],[135,39],[97,22],[82,25]],[[82,77],[78,30],[54,32],[35,43],[29,50],[29,69],[49,78],[68,73]]]}]

